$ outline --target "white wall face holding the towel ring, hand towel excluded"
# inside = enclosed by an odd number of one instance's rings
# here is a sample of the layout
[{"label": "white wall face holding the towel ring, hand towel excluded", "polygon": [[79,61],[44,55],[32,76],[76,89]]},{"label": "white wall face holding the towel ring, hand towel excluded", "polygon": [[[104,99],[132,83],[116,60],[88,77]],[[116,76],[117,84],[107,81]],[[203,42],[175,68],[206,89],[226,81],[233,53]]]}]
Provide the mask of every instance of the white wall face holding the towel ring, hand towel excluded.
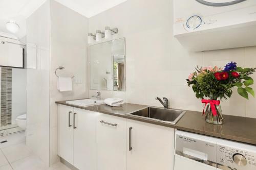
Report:
[{"label": "white wall face holding the towel ring, hand towel excluded", "polygon": [[[55,1],[51,1],[50,4],[50,164],[53,164],[58,161],[55,102],[88,97],[86,81],[88,18]],[[59,76],[75,76],[72,92],[57,90],[55,69],[59,66],[65,66],[65,69],[57,71]],[[75,83],[76,79],[81,79],[82,83]]]}]

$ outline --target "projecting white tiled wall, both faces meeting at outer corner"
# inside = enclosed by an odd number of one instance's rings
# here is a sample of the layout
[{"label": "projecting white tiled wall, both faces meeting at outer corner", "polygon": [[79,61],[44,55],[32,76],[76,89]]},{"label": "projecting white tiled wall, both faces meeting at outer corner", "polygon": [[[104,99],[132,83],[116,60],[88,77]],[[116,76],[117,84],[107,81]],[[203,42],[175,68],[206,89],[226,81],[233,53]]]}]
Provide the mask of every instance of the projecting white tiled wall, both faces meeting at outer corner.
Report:
[{"label": "projecting white tiled wall, both faces meeting at outer corner", "polygon": [[[55,1],[47,1],[27,19],[27,145],[46,165],[57,156],[55,101],[87,98],[88,19]],[[35,50],[36,48],[36,50]],[[30,51],[29,51],[30,50]],[[37,53],[36,53],[37,52]],[[73,91],[57,90],[57,74],[72,77]],[[75,80],[82,80],[75,83]]]}]

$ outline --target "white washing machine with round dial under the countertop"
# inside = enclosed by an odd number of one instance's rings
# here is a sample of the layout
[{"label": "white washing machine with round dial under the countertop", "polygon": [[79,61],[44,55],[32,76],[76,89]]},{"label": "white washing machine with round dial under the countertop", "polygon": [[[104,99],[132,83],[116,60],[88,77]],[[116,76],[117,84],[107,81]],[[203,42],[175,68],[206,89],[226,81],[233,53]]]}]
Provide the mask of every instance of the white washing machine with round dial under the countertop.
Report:
[{"label": "white washing machine with round dial under the countertop", "polygon": [[176,131],[174,170],[255,170],[256,146]]}]

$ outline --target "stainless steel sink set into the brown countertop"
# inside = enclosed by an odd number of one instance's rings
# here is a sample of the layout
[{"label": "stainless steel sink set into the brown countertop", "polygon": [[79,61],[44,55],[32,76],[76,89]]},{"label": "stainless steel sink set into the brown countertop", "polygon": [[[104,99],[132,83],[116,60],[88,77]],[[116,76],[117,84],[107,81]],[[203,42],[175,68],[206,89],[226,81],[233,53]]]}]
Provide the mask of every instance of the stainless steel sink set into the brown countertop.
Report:
[{"label": "stainless steel sink set into the brown countertop", "polygon": [[129,115],[146,119],[158,120],[170,124],[176,124],[186,111],[174,109],[162,109],[147,107],[142,110],[130,113]]}]

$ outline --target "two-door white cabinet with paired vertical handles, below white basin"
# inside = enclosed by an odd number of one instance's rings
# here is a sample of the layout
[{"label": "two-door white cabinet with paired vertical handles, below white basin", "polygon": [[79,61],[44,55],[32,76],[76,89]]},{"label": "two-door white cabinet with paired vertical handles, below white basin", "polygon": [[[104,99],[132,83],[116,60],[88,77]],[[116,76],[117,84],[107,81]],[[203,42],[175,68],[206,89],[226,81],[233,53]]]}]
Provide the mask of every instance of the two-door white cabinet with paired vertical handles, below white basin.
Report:
[{"label": "two-door white cabinet with paired vertical handles, below white basin", "polygon": [[95,112],[58,105],[58,155],[79,170],[95,169]]}]

